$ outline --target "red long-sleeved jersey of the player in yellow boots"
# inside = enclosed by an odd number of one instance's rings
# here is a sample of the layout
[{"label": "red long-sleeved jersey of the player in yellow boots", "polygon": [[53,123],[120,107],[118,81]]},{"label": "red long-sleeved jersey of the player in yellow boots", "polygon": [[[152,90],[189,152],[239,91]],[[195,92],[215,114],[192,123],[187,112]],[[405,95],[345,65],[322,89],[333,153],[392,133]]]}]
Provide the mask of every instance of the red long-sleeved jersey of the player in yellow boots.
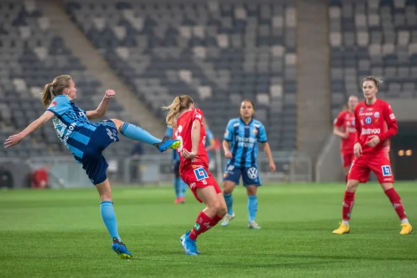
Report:
[{"label": "red long-sleeved jersey of the player in yellow boots", "polygon": [[[360,142],[363,154],[389,152],[390,138],[398,131],[397,120],[388,102],[377,99],[375,104],[360,102],[354,108],[354,120],[357,129],[355,142]],[[366,145],[369,137],[377,135],[379,144],[374,147]]]}]

